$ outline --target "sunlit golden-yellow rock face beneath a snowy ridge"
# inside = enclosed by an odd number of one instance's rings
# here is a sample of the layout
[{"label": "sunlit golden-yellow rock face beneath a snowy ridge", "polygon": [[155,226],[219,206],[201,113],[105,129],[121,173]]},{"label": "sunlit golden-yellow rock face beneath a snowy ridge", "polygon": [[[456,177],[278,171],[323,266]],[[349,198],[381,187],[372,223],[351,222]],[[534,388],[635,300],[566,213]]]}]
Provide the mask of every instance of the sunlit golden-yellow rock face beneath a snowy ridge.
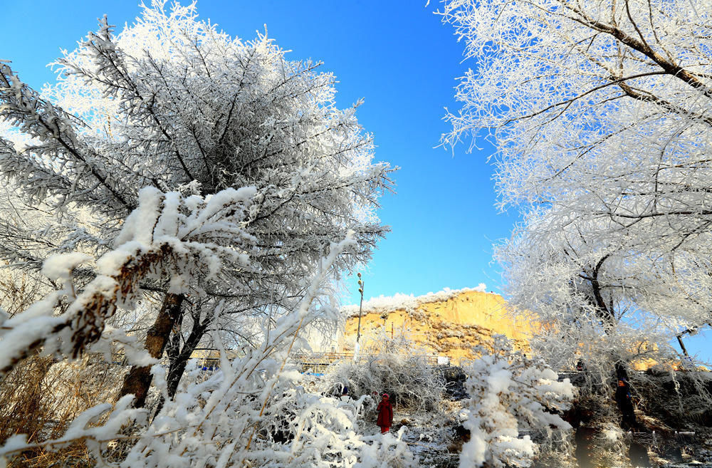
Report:
[{"label": "sunlit golden-yellow rock face beneath a snowy ridge", "polygon": [[[444,296],[444,297],[443,297]],[[356,338],[358,308],[349,308],[340,348],[349,350]],[[365,307],[361,316],[361,343],[403,336],[412,340],[416,352],[447,356],[451,363],[476,358],[471,348],[488,345],[493,335],[513,340],[515,348],[528,349],[528,341],[540,328],[523,314],[508,309],[494,293],[473,290],[438,293],[412,298],[404,306]]]}]

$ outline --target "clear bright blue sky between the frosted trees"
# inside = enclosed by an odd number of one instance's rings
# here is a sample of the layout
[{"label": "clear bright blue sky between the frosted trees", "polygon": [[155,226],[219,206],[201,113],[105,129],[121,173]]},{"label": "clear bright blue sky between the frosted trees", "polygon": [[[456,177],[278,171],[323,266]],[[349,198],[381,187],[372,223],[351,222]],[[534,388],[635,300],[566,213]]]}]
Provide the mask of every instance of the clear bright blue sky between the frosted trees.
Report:
[{"label": "clear bright blue sky between the frosted trees", "polygon": [[[146,0],[147,2],[150,0]],[[416,296],[443,288],[486,283],[499,292],[492,244],[509,236],[517,214],[498,213],[486,157],[493,148],[466,154],[439,145],[448,130],[444,108],[456,110],[456,78],[462,76],[462,44],[433,14],[426,0],[199,0],[198,12],[231,36],[264,31],[288,58],[324,62],[340,81],[337,104],[359,98],[358,118],[372,132],[377,160],[400,167],[397,194],[382,199],[379,217],[392,227],[362,272],[365,296]],[[140,14],[135,0],[0,0],[0,59],[11,60],[20,78],[41,88],[54,79],[46,67],[73,49],[97,18],[108,15],[120,30]],[[355,282],[355,281],[350,281]],[[346,302],[357,303],[356,287]],[[686,339],[691,352],[712,355],[704,338]]]}]

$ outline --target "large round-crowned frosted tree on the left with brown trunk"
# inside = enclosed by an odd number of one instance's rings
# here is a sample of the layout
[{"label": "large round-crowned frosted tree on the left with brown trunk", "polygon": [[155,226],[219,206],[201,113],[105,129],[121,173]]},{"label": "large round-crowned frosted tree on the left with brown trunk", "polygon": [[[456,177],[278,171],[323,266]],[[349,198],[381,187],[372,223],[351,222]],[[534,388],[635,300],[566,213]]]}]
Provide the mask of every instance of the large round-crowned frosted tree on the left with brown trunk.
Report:
[{"label": "large round-crowned frosted tree on the left with brown trunk", "polygon": [[[352,230],[358,245],[338,272],[368,259],[387,231],[374,210],[389,167],[372,162],[357,105],[338,110],[334,76],[288,61],[266,36],[231,38],[194,4],[155,1],[118,34],[103,19],[56,66],[57,83],[37,93],[0,63],[0,118],[14,125],[0,139],[0,175],[58,215],[41,227],[2,223],[7,261],[38,270],[48,254],[105,253],[142,187],[187,200],[256,189],[241,231],[225,239],[241,246],[239,261],[140,284],[159,295],[147,350],[159,358],[175,333],[172,392],[206,331],[231,329],[231,345],[249,345],[241,331],[292,310],[333,239]],[[149,368],[133,368],[122,392],[142,401],[150,380]]]}]

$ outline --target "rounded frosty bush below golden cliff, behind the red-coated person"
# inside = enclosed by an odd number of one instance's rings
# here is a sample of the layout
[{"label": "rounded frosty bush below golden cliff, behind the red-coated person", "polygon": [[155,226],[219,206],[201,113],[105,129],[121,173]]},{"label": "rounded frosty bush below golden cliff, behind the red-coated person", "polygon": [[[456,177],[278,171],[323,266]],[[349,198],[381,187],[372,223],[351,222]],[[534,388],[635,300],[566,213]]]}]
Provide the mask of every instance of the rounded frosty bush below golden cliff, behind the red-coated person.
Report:
[{"label": "rounded frosty bush below golden cliff, behind the red-coated person", "polygon": [[412,340],[387,333],[367,340],[355,360],[331,365],[323,385],[326,391],[346,385],[355,398],[388,393],[396,407],[428,411],[439,409],[445,390],[442,374],[419,355]]}]

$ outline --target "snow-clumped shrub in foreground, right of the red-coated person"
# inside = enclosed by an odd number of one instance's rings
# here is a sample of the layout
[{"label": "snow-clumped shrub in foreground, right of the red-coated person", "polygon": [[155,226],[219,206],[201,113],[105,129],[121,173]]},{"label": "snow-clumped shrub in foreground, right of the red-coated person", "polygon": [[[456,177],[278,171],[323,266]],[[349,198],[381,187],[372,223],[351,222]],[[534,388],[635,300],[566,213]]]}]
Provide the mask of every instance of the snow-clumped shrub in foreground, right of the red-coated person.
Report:
[{"label": "snow-clumped shrub in foreground, right of the red-coated person", "polygon": [[538,452],[537,437],[570,430],[555,412],[566,410],[574,397],[568,379],[540,360],[514,352],[504,336],[495,336],[493,350],[476,347],[481,357],[466,366],[471,438],[462,447],[461,468],[529,467]]}]

